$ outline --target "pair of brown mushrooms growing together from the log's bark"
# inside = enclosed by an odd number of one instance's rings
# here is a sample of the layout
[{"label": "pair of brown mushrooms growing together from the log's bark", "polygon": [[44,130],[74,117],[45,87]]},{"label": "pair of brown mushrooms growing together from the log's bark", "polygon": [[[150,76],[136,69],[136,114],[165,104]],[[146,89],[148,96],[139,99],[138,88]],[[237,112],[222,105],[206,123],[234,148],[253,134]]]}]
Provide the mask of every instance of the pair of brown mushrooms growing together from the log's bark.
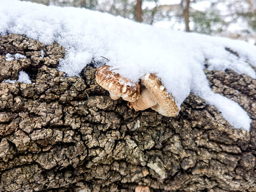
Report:
[{"label": "pair of brown mushrooms growing together from the log's bark", "polygon": [[123,98],[135,111],[154,109],[159,114],[170,117],[179,113],[177,103],[168,93],[161,80],[155,74],[146,74],[136,84],[118,73],[110,66],[101,66],[96,72],[96,82],[109,91],[111,99]]}]

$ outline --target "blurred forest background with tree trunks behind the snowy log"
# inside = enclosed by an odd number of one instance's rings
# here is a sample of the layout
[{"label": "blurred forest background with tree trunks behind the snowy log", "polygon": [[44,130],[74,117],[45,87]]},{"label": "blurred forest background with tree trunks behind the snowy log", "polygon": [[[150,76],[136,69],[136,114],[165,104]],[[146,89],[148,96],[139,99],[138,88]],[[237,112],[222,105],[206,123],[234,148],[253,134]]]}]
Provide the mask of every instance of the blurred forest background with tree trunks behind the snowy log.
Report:
[{"label": "blurred forest background with tree trunks behind the snowy log", "polygon": [[149,25],[256,45],[256,0],[23,0],[84,7]]}]

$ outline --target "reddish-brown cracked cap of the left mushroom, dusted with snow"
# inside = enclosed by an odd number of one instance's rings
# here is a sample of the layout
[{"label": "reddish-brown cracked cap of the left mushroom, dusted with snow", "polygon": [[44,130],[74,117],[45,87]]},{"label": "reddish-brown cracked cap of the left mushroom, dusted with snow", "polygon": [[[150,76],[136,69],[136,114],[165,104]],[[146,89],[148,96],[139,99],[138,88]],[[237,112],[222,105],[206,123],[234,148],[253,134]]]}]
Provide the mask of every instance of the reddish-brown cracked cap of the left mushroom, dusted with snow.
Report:
[{"label": "reddish-brown cracked cap of the left mushroom, dusted with snow", "polygon": [[129,79],[126,79],[111,71],[108,65],[101,66],[95,74],[96,82],[111,94],[122,97],[126,101],[133,102],[138,99],[140,94],[139,83],[134,84]]}]

